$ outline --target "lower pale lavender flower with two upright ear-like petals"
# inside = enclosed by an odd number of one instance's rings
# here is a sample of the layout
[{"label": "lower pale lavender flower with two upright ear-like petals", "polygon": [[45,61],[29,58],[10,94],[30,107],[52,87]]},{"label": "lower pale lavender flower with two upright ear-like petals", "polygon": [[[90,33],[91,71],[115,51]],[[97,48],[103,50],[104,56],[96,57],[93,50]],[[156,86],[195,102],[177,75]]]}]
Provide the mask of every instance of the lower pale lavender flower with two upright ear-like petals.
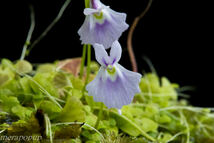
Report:
[{"label": "lower pale lavender flower with two upright ear-like petals", "polygon": [[95,79],[86,86],[96,102],[103,102],[108,108],[121,109],[132,102],[140,92],[141,75],[118,64],[122,49],[118,41],[113,42],[108,56],[103,45],[95,44],[96,60],[101,65]]}]

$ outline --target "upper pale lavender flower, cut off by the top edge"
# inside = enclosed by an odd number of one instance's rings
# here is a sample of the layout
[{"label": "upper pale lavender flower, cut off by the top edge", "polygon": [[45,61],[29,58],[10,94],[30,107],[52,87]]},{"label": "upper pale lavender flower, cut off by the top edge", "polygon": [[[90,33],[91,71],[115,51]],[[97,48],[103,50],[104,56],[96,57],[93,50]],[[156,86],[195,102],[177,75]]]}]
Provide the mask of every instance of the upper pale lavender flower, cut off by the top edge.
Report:
[{"label": "upper pale lavender flower, cut off by the top edge", "polygon": [[113,11],[100,0],[90,0],[84,14],[85,21],[78,31],[82,44],[98,43],[107,49],[129,27],[125,22],[125,13]]}]

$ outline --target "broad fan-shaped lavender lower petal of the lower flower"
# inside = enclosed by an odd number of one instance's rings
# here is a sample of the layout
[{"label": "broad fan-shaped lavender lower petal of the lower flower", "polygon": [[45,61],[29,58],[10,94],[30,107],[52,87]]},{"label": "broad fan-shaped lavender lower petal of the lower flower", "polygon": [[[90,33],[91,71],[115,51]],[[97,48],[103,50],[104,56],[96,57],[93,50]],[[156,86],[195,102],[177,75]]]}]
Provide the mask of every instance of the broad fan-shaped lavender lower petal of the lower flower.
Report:
[{"label": "broad fan-shaped lavender lower petal of the lower flower", "polygon": [[118,72],[121,72],[116,80],[112,81],[110,78],[103,80],[106,78],[106,72],[101,67],[96,78],[87,85],[86,90],[96,102],[103,102],[108,108],[121,109],[122,106],[130,104],[134,95],[140,92],[141,75],[128,71],[119,64],[116,66]]}]

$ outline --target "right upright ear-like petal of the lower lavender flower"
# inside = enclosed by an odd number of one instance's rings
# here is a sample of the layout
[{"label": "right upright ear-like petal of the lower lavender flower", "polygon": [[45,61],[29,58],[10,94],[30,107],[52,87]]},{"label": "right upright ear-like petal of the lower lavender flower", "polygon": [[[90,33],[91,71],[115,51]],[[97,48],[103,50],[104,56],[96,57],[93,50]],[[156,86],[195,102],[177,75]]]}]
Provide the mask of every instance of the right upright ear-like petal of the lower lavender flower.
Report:
[{"label": "right upright ear-like petal of the lower lavender flower", "polygon": [[111,59],[111,64],[113,65],[114,63],[119,62],[122,54],[122,48],[120,46],[120,43],[118,41],[115,41],[112,46],[111,46],[111,51],[110,51],[110,59]]}]

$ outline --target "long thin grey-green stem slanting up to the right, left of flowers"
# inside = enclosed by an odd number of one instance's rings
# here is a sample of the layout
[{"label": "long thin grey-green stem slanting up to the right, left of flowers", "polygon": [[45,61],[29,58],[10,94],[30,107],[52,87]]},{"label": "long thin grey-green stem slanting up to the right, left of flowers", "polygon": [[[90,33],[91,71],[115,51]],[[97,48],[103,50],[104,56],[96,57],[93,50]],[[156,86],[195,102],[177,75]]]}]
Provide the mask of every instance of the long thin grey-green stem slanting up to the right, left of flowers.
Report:
[{"label": "long thin grey-green stem slanting up to the right, left of flowers", "polygon": [[61,7],[57,17],[51,22],[51,24],[45,29],[45,31],[32,43],[28,50],[28,55],[30,51],[48,34],[48,32],[56,25],[56,23],[60,20],[62,17],[65,9],[68,7],[70,4],[71,0],[66,0],[63,6]]}]

